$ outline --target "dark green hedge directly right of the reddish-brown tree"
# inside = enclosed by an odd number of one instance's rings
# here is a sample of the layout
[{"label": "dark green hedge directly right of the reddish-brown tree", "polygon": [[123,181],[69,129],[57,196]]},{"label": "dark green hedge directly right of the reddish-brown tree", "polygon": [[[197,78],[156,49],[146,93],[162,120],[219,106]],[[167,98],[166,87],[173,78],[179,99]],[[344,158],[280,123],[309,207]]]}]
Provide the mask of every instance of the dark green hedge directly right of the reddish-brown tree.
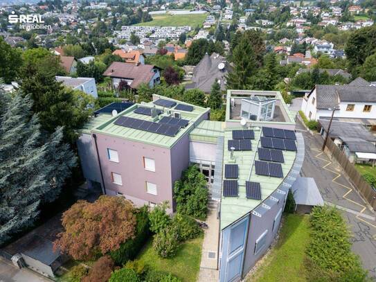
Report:
[{"label": "dark green hedge directly right of the reddish-brown tree", "polygon": [[135,238],[127,240],[116,251],[110,252],[111,258],[116,265],[123,266],[127,261],[136,258],[146,240],[150,237],[150,222],[147,206],[143,206],[136,214],[137,225]]}]

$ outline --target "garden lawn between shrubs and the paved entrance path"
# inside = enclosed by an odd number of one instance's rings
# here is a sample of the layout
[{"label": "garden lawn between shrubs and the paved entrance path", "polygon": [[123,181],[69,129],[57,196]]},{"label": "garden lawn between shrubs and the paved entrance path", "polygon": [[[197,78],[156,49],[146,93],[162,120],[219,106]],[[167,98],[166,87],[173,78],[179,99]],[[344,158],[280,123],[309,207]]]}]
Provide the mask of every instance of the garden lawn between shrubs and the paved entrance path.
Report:
[{"label": "garden lawn between shrubs and the paved entrance path", "polygon": [[192,240],[186,240],[179,246],[176,256],[173,258],[160,258],[152,247],[150,239],[137,259],[143,261],[146,267],[161,272],[170,272],[183,281],[197,280],[199,265],[201,262],[202,240],[204,236]]}]

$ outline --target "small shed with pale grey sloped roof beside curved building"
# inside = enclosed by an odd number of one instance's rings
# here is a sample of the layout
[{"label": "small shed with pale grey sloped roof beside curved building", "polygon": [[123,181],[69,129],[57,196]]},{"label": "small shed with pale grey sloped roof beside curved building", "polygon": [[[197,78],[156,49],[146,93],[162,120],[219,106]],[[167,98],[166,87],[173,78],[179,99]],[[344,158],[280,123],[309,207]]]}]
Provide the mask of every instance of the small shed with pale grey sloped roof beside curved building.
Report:
[{"label": "small shed with pale grey sloped roof beside curved building", "polygon": [[297,213],[310,213],[314,206],[323,206],[319,188],[312,177],[298,177],[292,185]]}]

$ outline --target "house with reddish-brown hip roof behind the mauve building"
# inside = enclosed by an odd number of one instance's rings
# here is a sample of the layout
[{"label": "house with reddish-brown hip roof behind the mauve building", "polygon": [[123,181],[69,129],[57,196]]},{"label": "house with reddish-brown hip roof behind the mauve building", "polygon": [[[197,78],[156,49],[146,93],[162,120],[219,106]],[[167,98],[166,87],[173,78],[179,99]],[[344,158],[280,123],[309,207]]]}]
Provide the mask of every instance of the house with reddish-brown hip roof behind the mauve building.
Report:
[{"label": "house with reddish-brown hip roof behind the mauve building", "polygon": [[141,83],[154,87],[161,80],[159,67],[152,64],[129,64],[126,62],[113,62],[103,76],[112,78],[114,88],[118,87],[121,80],[125,80],[132,89],[137,89]]}]

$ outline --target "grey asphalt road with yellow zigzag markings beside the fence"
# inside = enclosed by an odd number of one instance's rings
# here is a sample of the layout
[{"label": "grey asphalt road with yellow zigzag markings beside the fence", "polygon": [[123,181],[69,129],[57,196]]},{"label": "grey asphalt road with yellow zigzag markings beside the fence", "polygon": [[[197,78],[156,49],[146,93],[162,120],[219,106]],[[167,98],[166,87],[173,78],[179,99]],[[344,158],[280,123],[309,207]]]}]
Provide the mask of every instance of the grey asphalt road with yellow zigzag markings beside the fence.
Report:
[{"label": "grey asphalt road with yellow zigzag markings beside the fence", "polygon": [[359,255],[370,277],[376,280],[376,214],[366,207],[364,200],[343,176],[341,167],[332,164],[321,151],[323,139],[319,134],[312,136],[305,131],[300,121],[296,129],[301,130],[305,141],[305,159],[301,173],[313,177],[328,204],[343,211],[343,218],[352,231],[352,251]]}]

